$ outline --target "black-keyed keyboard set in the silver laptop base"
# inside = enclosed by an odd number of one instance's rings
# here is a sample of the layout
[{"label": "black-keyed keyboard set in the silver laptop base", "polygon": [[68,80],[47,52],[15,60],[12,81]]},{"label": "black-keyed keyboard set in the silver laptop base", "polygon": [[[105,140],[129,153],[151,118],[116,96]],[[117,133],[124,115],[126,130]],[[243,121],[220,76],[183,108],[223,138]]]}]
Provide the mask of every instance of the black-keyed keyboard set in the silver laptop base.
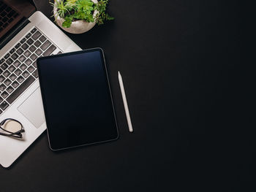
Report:
[{"label": "black-keyed keyboard set in the silver laptop base", "polygon": [[37,80],[37,58],[53,55],[56,48],[42,32],[33,28],[0,58],[0,114]]}]

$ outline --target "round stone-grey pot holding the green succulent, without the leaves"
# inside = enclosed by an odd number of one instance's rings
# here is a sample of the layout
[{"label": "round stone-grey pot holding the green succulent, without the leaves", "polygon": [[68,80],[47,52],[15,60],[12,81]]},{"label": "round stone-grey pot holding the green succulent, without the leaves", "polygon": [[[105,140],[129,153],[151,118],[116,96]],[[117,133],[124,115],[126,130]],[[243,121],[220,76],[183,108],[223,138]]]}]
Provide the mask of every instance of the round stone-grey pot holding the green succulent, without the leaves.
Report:
[{"label": "round stone-grey pot holding the green succulent, without the leaves", "polygon": [[[59,1],[59,0],[57,0]],[[97,0],[91,0],[96,4],[98,1]],[[94,11],[94,18],[96,17],[98,11]],[[62,23],[64,22],[64,18],[61,18],[58,13],[57,13],[57,7],[56,7],[56,1],[55,1],[55,6],[53,7],[53,15],[56,20],[56,23],[64,30],[69,32],[70,34],[83,34],[86,31],[89,31],[91,28],[93,28],[96,24],[94,21],[93,23],[88,23],[85,20],[75,20],[72,21],[71,26],[69,28],[63,27]]]}]

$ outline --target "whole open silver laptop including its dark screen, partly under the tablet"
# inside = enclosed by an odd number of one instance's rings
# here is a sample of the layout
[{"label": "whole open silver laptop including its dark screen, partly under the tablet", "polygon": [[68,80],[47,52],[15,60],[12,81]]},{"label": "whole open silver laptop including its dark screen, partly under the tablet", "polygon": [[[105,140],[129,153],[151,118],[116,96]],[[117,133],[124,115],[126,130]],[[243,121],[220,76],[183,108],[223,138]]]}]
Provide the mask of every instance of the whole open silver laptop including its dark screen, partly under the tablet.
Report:
[{"label": "whole open silver laptop including its dark screen, partly under the tablet", "polygon": [[0,135],[0,164],[9,167],[46,129],[37,58],[81,49],[26,0],[0,0],[0,41],[0,121],[25,130],[23,139]]}]

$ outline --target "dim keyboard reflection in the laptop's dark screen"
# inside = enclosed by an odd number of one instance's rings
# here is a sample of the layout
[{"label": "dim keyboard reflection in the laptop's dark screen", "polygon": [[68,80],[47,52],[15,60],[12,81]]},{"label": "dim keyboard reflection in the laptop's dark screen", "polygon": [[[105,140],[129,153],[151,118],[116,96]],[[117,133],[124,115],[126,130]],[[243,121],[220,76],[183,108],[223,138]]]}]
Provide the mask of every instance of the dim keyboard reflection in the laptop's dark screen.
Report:
[{"label": "dim keyboard reflection in the laptop's dark screen", "polygon": [[17,16],[18,12],[15,12],[15,10],[7,4],[4,4],[3,1],[0,1],[0,32],[6,28],[12,20],[17,18]]}]

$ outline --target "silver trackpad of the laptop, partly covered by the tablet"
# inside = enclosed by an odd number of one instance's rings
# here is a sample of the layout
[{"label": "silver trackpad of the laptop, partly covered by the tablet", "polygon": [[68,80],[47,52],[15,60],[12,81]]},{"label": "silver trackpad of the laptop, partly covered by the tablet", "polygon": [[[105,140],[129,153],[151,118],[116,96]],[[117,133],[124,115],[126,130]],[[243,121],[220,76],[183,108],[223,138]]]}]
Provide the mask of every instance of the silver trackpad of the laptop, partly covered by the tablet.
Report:
[{"label": "silver trackpad of the laptop, partly covered by the tablet", "polygon": [[45,114],[42,107],[40,88],[37,88],[28,99],[18,107],[21,112],[35,127],[39,128],[45,122]]}]

